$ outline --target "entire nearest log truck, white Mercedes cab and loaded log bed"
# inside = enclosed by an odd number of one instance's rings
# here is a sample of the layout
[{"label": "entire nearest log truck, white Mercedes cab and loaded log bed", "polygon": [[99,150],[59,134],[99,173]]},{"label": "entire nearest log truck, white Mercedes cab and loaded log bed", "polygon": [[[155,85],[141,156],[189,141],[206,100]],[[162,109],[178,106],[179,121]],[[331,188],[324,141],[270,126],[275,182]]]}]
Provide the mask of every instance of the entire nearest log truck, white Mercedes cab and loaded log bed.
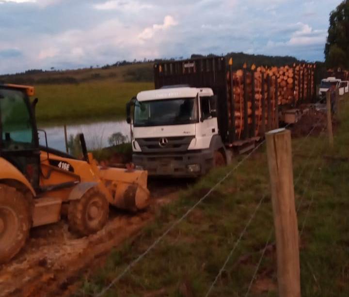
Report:
[{"label": "entire nearest log truck, white Mercedes cab and loaded log bed", "polygon": [[127,104],[133,162],[153,176],[197,177],[298,120],[315,65],[233,70],[223,57],[154,64],[155,90]]}]

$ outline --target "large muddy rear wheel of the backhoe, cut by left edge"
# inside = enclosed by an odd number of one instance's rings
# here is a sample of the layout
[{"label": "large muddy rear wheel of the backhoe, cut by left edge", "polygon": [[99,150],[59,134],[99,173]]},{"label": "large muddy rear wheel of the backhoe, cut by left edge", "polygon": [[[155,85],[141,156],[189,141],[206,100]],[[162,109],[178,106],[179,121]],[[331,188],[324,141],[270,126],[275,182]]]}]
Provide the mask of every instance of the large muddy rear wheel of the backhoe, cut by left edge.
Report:
[{"label": "large muddy rear wheel of the backhoe, cut by left edge", "polygon": [[0,184],[0,264],[25,245],[32,223],[29,201],[16,188]]}]

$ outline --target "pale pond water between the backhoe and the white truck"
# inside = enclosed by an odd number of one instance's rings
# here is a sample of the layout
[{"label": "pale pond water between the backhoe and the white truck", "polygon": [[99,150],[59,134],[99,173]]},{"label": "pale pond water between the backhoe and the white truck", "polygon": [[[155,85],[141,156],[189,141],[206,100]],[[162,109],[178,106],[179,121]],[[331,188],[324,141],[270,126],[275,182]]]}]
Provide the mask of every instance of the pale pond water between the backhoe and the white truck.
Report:
[{"label": "pale pond water between the backhoe and the white truck", "polygon": [[[88,150],[101,149],[110,146],[109,138],[114,133],[121,133],[127,140],[130,139],[130,125],[126,121],[108,121],[96,122],[90,124],[66,125],[68,140],[70,135],[75,137],[79,133],[85,136],[86,146]],[[45,126],[38,125],[38,129],[43,129],[47,133],[48,147],[65,152],[64,126]],[[39,142],[45,144],[45,134],[39,131]]]}]

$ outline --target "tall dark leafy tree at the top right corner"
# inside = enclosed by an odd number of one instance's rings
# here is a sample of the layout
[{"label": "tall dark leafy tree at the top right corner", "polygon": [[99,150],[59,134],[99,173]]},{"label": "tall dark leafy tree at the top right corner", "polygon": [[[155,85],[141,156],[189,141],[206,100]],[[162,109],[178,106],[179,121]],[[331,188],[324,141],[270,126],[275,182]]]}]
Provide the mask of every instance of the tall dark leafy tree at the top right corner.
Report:
[{"label": "tall dark leafy tree at the top right corner", "polygon": [[344,0],[330,14],[324,53],[327,67],[349,68],[349,0]]}]

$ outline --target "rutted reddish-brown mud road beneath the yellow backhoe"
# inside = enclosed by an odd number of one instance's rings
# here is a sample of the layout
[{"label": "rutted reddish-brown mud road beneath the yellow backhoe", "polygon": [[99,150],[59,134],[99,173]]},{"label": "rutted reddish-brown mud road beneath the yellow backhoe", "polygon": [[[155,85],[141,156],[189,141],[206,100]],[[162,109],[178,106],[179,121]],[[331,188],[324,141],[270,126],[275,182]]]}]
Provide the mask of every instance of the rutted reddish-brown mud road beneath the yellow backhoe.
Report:
[{"label": "rutted reddish-brown mud road beneath the yellow backhoe", "polygon": [[33,228],[25,248],[0,266],[0,297],[70,296],[84,275],[104,264],[113,247],[136,236],[161,205],[176,199],[187,186],[186,180],[151,179],[153,203],[146,211],[130,214],[111,207],[105,228],[90,236],[79,238],[70,233],[64,218]]}]

